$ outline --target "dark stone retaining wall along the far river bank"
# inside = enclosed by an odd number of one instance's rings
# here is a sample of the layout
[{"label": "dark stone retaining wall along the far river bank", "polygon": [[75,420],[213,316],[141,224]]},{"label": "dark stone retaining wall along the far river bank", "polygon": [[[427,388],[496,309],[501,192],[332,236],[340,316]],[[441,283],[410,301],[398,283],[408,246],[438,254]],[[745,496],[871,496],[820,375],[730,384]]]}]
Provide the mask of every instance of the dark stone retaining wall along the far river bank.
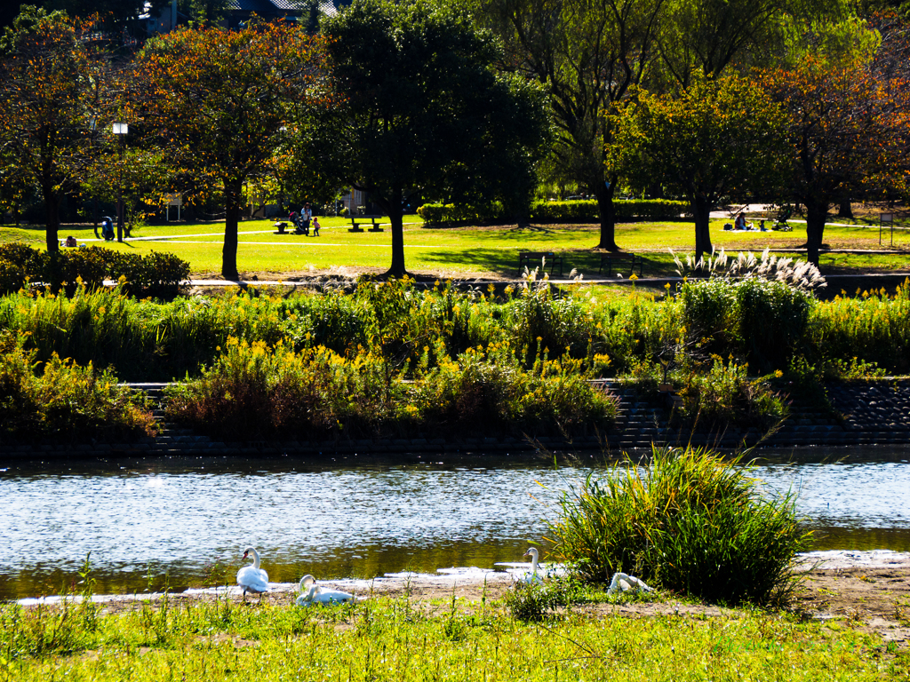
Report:
[{"label": "dark stone retaining wall along the far river bank", "polygon": [[[598,450],[619,452],[650,448],[652,444],[734,448],[743,442],[756,444],[763,436],[757,429],[730,427],[723,432],[696,433],[674,430],[668,425],[669,411],[661,400],[644,400],[632,386],[603,382],[619,397],[616,425],[602,436],[574,439],[541,437],[528,442],[505,438],[400,438],[368,440],[283,441],[224,443],[201,436],[191,429],[163,424],[155,438],[136,443],[77,446],[9,446],[0,444],[0,457],[49,458],[56,456],[335,456],[407,453],[496,453],[511,454],[539,449],[553,451]],[[160,395],[161,385],[138,385],[151,396]],[[869,382],[834,384],[828,397],[842,418],[834,418],[799,405],[791,416],[761,446],[858,446],[910,444],[910,379],[889,378]],[[159,413],[160,416],[161,413]]]}]

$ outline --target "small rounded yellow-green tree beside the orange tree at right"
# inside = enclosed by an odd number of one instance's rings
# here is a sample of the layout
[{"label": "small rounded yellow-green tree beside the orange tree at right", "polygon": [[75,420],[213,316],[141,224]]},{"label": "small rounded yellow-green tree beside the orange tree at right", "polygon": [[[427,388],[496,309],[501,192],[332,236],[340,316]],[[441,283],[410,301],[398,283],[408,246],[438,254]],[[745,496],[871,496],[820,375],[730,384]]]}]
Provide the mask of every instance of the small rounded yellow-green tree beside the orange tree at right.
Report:
[{"label": "small rounded yellow-green tree beside the orange tree at right", "polygon": [[696,259],[712,252],[710,214],[721,197],[771,186],[780,172],[784,115],[748,79],[693,75],[680,95],[642,92],[615,120],[613,163],[692,204]]}]

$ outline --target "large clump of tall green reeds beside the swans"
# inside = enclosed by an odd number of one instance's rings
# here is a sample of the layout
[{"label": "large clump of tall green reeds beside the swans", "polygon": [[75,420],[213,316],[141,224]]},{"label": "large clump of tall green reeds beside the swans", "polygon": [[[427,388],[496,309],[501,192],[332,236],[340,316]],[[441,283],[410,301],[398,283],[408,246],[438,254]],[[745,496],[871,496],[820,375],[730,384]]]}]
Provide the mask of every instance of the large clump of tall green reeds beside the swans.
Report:
[{"label": "large clump of tall green reeds beside the swans", "polygon": [[655,449],[647,464],[627,461],[563,493],[551,556],[591,581],[623,571],[728,604],[781,602],[810,539],[795,503],[792,492],[764,495],[741,457]]}]

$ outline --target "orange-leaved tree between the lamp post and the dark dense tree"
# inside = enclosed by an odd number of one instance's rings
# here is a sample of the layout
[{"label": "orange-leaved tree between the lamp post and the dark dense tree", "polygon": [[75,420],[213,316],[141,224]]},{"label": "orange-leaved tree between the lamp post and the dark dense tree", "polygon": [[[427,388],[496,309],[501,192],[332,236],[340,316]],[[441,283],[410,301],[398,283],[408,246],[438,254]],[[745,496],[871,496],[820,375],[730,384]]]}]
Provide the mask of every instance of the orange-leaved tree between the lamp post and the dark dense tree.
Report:
[{"label": "orange-leaved tree between the lamp post and the dark dense tree", "polygon": [[150,40],[132,97],[147,143],[223,193],[221,274],[238,279],[244,184],[266,176],[308,107],[323,104],[323,40],[286,23],[185,28]]}]

